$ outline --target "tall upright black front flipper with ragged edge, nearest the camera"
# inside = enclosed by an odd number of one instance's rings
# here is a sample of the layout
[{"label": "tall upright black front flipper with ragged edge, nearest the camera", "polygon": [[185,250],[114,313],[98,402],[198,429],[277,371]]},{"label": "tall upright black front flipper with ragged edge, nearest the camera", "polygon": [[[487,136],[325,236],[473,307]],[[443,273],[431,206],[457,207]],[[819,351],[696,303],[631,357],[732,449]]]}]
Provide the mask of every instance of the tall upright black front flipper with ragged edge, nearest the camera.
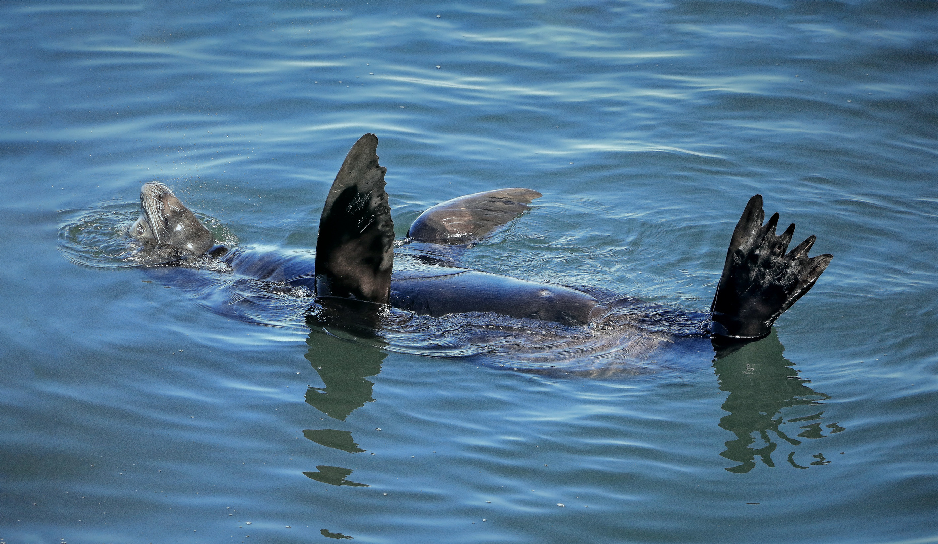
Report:
[{"label": "tall upright black front flipper with ragged edge, nearest the camera", "polygon": [[394,222],[385,173],[365,134],[342,162],[325,199],[316,243],[316,295],[387,304],[394,265]]}]

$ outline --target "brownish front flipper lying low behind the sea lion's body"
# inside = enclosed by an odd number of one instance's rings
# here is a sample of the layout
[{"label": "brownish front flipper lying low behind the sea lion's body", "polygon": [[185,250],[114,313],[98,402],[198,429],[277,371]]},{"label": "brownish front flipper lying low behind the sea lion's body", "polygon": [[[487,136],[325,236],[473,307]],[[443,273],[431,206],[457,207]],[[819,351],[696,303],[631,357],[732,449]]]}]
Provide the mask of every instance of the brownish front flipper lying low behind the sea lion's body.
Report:
[{"label": "brownish front flipper lying low behind the sea lion's body", "polygon": [[531,189],[497,189],[454,198],[420,214],[407,236],[416,242],[468,244],[517,218],[540,196]]}]

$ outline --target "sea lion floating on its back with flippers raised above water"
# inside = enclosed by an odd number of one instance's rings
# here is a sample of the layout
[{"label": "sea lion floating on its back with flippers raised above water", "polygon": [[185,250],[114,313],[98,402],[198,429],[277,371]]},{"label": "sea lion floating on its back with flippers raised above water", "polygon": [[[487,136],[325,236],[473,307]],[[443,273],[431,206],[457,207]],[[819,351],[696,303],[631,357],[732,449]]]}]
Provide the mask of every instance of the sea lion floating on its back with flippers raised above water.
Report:
[{"label": "sea lion floating on its back with flippers raised above water", "polygon": [[[349,150],[325,201],[315,263],[289,255],[235,250],[223,257],[235,272],[306,286],[317,296],[391,305],[431,316],[491,311],[566,325],[606,320],[635,299],[600,301],[556,283],[520,280],[454,266],[446,248],[469,247],[478,237],[516,218],[540,196],[531,189],[499,189],[437,204],[416,219],[407,242],[426,257],[423,266],[394,272],[394,223],[385,191],[386,168],[378,164],[378,139],[362,136]],[[149,186],[152,186],[149,187]],[[212,247],[198,219],[161,184],[141,193],[142,219],[159,244],[201,254]],[[794,224],[776,234],[779,214],[763,224],[762,197],[749,200],[734,230],[726,264],[710,309],[697,334],[719,343],[758,340],[779,315],[808,292],[831,255],[809,258],[810,236],[786,253]],[[203,227],[204,229],[204,227]],[[175,232],[181,235],[174,237]],[[205,231],[207,233],[207,231]],[[135,235],[136,231],[135,231]],[[141,234],[143,235],[143,234]],[[214,254],[214,252],[213,252]],[[432,263],[432,264],[427,264]],[[313,268],[310,273],[310,268]]]}]

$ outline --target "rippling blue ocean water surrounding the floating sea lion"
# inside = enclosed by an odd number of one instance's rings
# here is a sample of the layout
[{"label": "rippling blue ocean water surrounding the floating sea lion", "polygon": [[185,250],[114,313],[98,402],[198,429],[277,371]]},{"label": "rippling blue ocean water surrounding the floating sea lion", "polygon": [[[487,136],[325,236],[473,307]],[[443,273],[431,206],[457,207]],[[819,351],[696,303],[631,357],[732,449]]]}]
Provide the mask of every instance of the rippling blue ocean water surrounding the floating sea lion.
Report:
[{"label": "rippling blue ocean water surrounding the floating sea lion", "polygon": [[[938,542],[934,2],[0,15],[0,542]],[[314,249],[367,132],[401,236],[544,195],[483,270],[705,311],[756,193],[835,258],[769,338],[643,357],[471,316],[355,338],[107,257],[152,180]]]}]

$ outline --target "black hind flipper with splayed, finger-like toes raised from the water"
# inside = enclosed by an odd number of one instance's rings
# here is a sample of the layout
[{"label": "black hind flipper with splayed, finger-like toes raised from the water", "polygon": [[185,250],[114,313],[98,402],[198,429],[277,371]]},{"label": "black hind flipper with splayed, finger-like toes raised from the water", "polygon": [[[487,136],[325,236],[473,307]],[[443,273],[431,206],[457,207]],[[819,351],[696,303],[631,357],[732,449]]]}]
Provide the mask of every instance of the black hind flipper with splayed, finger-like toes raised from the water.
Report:
[{"label": "black hind flipper with splayed, finger-like toes raised from the water", "polygon": [[779,214],[763,225],[764,217],[762,195],[757,194],[736,223],[710,307],[710,330],[718,337],[757,340],[767,336],[779,315],[808,293],[834,258],[829,254],[808,257],[814,236],[786,255],[794,223],[777,235]]}]

